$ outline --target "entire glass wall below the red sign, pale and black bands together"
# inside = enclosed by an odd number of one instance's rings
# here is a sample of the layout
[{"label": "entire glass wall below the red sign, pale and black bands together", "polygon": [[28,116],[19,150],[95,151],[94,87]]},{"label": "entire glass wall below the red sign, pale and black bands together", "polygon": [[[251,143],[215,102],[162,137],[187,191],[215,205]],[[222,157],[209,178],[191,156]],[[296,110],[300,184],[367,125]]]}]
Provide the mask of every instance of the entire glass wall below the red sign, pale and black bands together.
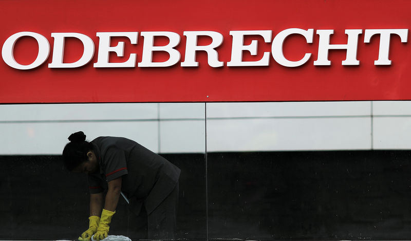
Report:
[{"label": "entire glass wall below the red sign, pale and black bands together", "polygon": [[[134,139],[181,169],[176,238],[404,240],[409,101],[0,105],[0,239],[75,239],[88,225],[67,137]],[[110,234],[146,239],[121,199]]]}]

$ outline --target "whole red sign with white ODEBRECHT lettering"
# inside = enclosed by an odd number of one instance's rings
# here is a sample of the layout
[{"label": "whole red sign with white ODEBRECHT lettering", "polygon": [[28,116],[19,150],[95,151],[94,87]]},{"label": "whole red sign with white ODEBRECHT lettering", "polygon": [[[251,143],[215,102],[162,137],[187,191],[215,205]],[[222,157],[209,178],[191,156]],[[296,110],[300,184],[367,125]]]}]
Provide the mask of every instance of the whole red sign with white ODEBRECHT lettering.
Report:
[{"label": "whole red sign with white ODEBRECHT lettering", "polygon": [[410,7],[3,1],[0,103],[411,100]]}]

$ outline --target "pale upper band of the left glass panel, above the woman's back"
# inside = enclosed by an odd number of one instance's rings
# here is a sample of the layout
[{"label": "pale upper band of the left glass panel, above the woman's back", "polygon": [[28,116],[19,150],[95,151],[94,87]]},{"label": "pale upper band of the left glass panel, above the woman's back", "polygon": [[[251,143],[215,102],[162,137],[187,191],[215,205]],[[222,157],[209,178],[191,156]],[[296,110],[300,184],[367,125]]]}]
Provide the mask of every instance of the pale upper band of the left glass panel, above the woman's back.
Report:
[{"label": "pale upper band of the left glass panel, above the woman's back", "polygon": [[127,137],[156,153],[205,150],[203,103],[0,105],[0,113],[0,132],[8,137],[0,140],[1,155],[61,155],[77,131],[89,141]]}]

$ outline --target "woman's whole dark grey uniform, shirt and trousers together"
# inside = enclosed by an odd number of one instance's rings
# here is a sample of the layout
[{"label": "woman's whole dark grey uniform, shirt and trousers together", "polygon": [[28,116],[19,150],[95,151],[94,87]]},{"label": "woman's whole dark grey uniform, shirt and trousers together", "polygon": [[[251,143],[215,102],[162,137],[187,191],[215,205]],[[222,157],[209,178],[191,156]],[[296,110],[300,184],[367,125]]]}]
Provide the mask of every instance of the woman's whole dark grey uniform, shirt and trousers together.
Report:
[{"label": "woman's whole dark grey uniform, shirt and trousers together", "polygon": [[148,216],[148,238],[174,238],[180,169],[133,140],[98,137],[91,141],[100,173],[88,175],[90,193],[101,193],[107,182],[122,177],[121,191],[137,215]]}]

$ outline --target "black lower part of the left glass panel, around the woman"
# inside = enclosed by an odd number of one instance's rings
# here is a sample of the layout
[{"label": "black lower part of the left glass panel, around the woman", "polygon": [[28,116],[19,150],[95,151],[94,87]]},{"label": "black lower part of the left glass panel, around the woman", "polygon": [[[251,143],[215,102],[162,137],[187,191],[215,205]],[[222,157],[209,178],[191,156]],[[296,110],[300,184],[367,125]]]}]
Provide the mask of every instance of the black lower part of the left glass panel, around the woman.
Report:
[{"label": "black lower part of the left glass panel, around the woman", "polygon": [[[162,155],[181,169],[177,235],[206,239],[204,154]],[[88,228],[85,174],[70,173],[60,156],[0,156],[0,239],[75,240]],[[146,239],[146,215],[120,197],[109,234]]]}]

